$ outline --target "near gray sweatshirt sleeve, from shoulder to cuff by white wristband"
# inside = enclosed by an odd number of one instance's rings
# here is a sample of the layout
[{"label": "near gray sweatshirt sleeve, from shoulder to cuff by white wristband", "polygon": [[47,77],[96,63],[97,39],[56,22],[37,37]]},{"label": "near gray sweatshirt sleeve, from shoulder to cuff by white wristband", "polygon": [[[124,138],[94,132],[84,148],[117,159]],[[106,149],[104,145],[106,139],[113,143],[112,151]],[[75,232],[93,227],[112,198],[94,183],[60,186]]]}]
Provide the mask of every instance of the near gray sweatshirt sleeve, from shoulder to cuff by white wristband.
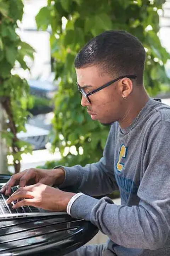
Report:
[{"label": "near gray sweatshirt sleeve, from shoulder to cuff by white wristband", "polygon": [[[146,164],[147,163],[147,164]],[[70,214],[95,224],[112,241],[128,248],[155,250],[170,231],[170,123],[158,123],[149,136],[137,206],[115,205],[108,197],[82,195]]]}]

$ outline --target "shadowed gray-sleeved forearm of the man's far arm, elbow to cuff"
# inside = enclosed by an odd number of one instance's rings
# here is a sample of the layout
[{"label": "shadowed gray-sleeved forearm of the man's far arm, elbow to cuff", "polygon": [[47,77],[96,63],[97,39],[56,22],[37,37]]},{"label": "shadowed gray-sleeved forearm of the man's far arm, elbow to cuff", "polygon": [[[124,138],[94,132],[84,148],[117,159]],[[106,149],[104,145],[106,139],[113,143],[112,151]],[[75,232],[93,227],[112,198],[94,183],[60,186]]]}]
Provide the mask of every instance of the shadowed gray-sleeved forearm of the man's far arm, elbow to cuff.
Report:
[{"label": "shadowed gray-sleeved forearm of the man's far arm, elbow to cuff", "polygon": [[88,164],[85,167],[76,165],[64,167],[66,177],[60,188],[73,186],[91,196],[101,196],[117,189],[113,172],[106,170],[102,162]]}]

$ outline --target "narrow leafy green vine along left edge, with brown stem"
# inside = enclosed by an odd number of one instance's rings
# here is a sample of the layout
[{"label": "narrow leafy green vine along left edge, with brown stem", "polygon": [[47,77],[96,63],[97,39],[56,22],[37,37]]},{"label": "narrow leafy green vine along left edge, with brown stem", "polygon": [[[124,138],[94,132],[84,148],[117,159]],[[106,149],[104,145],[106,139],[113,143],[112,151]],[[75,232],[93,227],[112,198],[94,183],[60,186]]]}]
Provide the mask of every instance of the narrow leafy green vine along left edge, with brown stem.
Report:
[{"label": "narrow leafy green vine along left edge, with brown stem", "polygon": [[32,106],[29,86],[12,72],[16,63],[29,69],[25,56],[33,59],[33,48],[22,42],[16,32],[22,16],[22,0],[17,0],[17,4],[15,0],[0,0],[0,105],[5,119],[0,133],[6,141],[8,155],[13,156],[15,172],[20,170],[21,154],[30,152],[30,146],[17,138],[18,132],[26,131],[27,108]]}]

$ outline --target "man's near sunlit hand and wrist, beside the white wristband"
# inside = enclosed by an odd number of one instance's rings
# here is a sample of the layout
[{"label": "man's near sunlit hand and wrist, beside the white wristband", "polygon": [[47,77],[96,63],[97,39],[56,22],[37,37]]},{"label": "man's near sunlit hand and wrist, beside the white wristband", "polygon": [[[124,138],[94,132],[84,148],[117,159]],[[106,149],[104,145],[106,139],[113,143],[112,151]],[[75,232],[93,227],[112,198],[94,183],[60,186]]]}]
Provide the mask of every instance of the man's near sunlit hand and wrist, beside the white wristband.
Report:
[{"label": "man's near sunlit hand and wrist, beside the white wristband", "polygon": [[8,199],[7,203],[17,201],[13,208],[34,206],[55,212],[66,211],[67,204],[75,193],[61,191],[58,188],[37,183],[35,185],[18,188]]}]

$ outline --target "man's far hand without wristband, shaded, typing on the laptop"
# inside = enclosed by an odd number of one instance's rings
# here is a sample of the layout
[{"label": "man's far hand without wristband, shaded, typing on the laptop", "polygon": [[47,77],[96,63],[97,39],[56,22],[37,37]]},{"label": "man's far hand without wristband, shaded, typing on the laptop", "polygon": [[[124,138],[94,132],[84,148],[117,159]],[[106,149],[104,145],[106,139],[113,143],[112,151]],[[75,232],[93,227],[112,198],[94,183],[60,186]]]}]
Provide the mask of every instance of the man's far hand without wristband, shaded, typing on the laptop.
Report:
[{"label": "man's far hand without wristband, shaded, typing on the laptop", "polygon": [[30,168],[12,175],[10,180],[2,187],[1,193],[10,194],[11,187],[13,186],[19,185],[19,187],[24,187],[38,182],[50,186],[54,184],[60,185],[63,183],[64,178],[65,172],[63,168],[51,170]]}]

